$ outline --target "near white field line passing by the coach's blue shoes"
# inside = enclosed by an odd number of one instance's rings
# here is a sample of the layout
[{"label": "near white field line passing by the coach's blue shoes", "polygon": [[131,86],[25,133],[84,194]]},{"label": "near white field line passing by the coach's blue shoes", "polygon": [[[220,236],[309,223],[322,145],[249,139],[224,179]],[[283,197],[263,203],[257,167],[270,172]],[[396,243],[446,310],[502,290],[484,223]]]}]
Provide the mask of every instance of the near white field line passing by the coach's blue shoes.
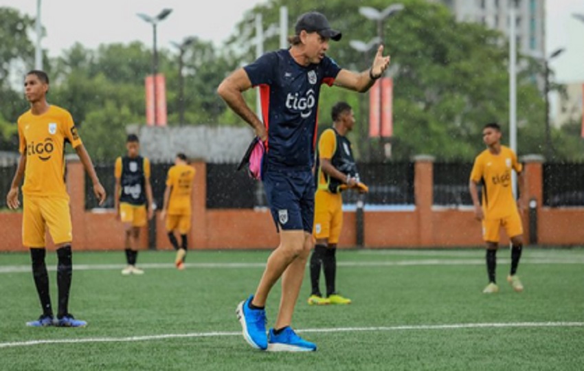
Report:
[{"label": "near white field line passing by the coach's blue shoes", "polygon": [[[483,324],[438,324],[438,325],[404,325],[404,326],[381,326],[381,327],[341,327],[341,328],[306,328],[297,330],[298,333],[353,333],[353,332],[379,332],[379,331],[404,331],[404,330],[458,330],[469,328],[567,328],[584,327],[584,322],[511,322],[511,323],[483,323]],[[16,348],[25,346],[36,346],[43,344],[82,344],[82,343],[123,343],[133,341],[150,341],[177,339],[188,337],[231,337],[241,336],[240,332],[213,331],[209,333],[186,333],[186,334],[162,334],[144,335],[132,337],[86,337],[78,339],[43,339],[29,341],[7,341],[0,343],[0,348]]]}]

